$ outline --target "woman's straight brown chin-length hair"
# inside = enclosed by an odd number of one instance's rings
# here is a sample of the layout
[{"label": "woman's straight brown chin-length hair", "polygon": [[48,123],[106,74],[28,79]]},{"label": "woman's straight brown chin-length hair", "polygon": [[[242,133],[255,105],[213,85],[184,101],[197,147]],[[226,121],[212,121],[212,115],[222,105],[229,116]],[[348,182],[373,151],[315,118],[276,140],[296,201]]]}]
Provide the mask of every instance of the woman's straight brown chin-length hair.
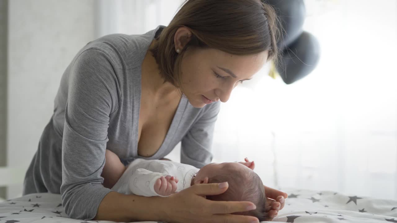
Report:
[{"label": "woman's straight brown chin-length hair", "polygon": [[[164,82],[181,88],[180,65],[187,48],[214,48],[233,55],[268,51],[268,60],[277,63],[279,24],[272,6],[260,0],[186,0],[156,37],[151,52]],[[183,26],[192,35],[178,54],[174,35]]]}]

